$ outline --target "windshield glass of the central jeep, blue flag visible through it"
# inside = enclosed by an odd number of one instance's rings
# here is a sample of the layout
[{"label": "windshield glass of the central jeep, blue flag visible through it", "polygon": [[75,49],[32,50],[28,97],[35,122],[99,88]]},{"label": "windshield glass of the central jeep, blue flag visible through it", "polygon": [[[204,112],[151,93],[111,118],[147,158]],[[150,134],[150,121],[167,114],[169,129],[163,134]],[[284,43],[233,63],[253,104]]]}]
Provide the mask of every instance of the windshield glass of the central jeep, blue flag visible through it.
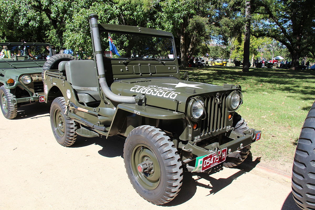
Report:
[{"label": "windshield glass of the central jeep, blue flag visible through it", "polygon": [[128,61],[145,59],[160,61],[175,58],[171,37],[107,32],[102,33],[102,36],[105,58],[122,58]]}]

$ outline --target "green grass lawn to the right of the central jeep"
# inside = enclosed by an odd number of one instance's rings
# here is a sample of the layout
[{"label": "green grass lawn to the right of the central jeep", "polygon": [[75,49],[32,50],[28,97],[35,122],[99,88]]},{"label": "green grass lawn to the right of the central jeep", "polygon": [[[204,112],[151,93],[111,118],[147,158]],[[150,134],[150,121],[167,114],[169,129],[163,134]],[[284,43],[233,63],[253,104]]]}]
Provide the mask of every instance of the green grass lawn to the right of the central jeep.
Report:
[{"label": "green grass lawn to the right of the central jeep", "polygon": [[242,67],[229,66],[180,71],[188,71],[190,81],[241,85],[243,105],[237,112],[250,128],[262,131],[261,140],[252,145],[253,156],[278,162],[275,167],[292,167],[301,127],[315,100],[315,71],[251,68],[245,73]]}]

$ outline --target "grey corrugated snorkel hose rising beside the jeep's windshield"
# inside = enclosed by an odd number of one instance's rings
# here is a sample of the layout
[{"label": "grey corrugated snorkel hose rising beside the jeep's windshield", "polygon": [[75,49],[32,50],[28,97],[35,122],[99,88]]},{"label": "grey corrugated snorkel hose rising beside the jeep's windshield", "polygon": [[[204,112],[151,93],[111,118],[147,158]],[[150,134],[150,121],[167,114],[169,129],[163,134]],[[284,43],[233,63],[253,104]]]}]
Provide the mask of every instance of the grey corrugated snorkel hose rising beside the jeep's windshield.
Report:
[{"label": "grey corrugated snorkel hose rising beside the jeep's windshield", "polygon": [[136,100],[133,96],[122,96],[114,94],[111,89],[108,87],[106,78],[105,78],[105,68],[103,62],[103,51],[101,48],[100,42],[100,30],[98,28],[98,15],[97,14],[90,14],[89,16],[90,28],[91,28],[91,36],[92,36],[92,44],[95,50],[95,61],[96,61],[96,68],[99,75],[99,82],[100,88],[102,89],[105,96],[115,102],[119,103],[127,103],[127,104],[135,104]]}]

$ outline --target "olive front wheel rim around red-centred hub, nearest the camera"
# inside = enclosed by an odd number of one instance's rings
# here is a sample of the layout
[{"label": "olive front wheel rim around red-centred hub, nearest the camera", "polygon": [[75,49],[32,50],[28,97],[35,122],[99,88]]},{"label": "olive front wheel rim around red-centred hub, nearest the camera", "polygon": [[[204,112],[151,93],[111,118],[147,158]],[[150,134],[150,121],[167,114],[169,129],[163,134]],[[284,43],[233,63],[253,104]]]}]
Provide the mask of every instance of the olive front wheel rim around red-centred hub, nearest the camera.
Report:
[{"label": "olive front wheel rim around red-centred hub, nearest the camera", "polygon": [[[145,160],[150,160],[153,165],[151,173],[140,173],[137,169],[138,164]],[[148,146],[144,144],[136,145],[131,152],[131,167],[135,174],[135,178],[142,187],[147,190],[154,190],[160,183],[161,170],[157,161],[157,157]]]}]

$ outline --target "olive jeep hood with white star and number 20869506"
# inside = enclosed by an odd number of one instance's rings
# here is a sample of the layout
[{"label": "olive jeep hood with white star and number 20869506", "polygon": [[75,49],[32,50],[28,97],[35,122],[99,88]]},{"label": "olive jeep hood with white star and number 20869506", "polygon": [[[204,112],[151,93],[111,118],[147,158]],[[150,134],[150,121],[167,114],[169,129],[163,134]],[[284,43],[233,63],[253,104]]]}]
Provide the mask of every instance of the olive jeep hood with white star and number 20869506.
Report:
[{"label": "olive jeep hood with white star and number 20869506", "polygon": [[224,88],[223,86],[178,80],[176,78],[138,78],[125,79],[113,82],[111,90],[115,94],[135,96],[142,94],[146,96],[146,105],[156,106],[169,110],[176,110],[180,101],[178,111],[185,112],[187,100],[192,96],[207,95],[211,93],[230,93],[235,88]]}]

